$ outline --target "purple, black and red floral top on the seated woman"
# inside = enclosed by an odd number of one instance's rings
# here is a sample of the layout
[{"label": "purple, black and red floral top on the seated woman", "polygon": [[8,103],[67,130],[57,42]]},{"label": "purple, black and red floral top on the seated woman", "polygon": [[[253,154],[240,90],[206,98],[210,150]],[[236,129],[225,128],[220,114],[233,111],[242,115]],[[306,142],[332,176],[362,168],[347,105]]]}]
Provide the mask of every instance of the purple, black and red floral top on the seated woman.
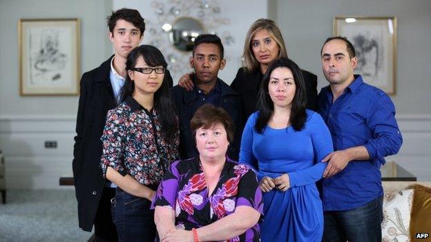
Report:
[{"label": "purple, black and red floral top on the seated woman", "polygon": [[[227,160],[213,193],[209,196],[208,192],[199,159],[175,161],[159,185],[153,208],[175,208],[176,228],[185,230],[209,225],[232,214],[238,206],[249,206],[263,214],[262,192],[248,165]],[[260,241],[259,225],[227,241]]]}]

